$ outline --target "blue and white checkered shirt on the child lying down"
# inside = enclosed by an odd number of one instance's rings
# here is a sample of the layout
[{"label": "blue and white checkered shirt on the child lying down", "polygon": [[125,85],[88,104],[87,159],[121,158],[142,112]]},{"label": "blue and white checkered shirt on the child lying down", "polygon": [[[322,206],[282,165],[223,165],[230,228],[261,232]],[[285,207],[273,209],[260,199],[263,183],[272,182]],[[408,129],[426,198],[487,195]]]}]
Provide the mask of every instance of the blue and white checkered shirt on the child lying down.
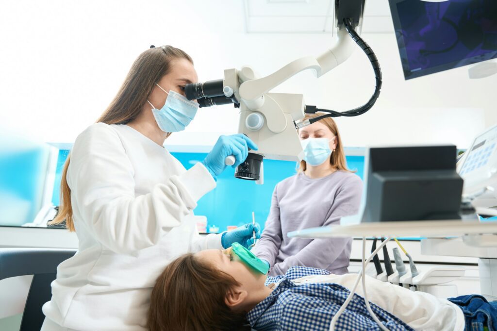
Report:
[{"label": "blue and white checkered shirt on the child lying down", "polygon": [[[333,316],[349,290],[334,283],[296,285],[292,280],[309,275],[327,275],[327,270],[293,266],[284,276],[268,276],[266,286],[278,284],[273,292],[247,314],[257,331],[328,331]],[[371,309],[388,330],[413,330],[397,317],[371,303]],[[364,298],[354,294],[336,323],[336,330],[381,330],[366,309]]]}]

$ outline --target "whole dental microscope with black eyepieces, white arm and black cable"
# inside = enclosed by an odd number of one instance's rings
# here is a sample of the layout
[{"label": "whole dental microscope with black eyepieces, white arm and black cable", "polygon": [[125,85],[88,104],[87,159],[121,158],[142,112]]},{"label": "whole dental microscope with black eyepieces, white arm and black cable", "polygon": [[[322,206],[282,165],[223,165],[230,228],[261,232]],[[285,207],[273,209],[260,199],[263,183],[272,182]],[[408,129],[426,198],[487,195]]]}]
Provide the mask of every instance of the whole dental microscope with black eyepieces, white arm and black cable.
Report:
[{"label": "whole dental microscope with black eyepieces, white arm and black cable", "polygon": [[[224,79],[185,86],[186,97],[196,99],[200,107],[234,104],[240,109],[238,133],[247,135],[258,146],[248,153],[244,163],[235,171],[235,177],[263,183],[262,160],[302,160],[302,147],[298,129],[325,117],[357,116],[369,110],[380,94],[381,69],[375,54],[356,32],[362,26],[365,0],[336,0],[336,43],[318,57],[304,57],[292,61],[283,68],[266,76],[257,76],[251,67],[240,70],[226,69]],[[355,109],[339,112],[307,105],[302,94],[273,93],[274,87],[294,75],[312,70],[317,78],[345,62],[357,47],[365,52],[373,67],[376,86],[369,101]],[[305,114],[319,113],[321,116],[303,120]],[[226,159],[227,165],[234,158]]]}]

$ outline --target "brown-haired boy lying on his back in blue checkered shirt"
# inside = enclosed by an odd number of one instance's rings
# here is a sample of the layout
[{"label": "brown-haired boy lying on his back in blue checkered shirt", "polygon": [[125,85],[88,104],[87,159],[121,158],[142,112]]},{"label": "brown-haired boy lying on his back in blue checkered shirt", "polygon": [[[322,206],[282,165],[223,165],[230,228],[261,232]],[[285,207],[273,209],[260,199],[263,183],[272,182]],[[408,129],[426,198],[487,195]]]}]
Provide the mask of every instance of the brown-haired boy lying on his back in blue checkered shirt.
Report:
[{"label": "brown-haired boy lying on his back in blue checkered shirt", "polygon": [[[302,266],[267,276],[235,250],[207,249],[171,262],[152,291],[150,330],[328,331],[357,278]],[[448,300],[371,277],[366,290],[388,330],[464,330],[463,311]],[[335,330],[381,330],[360,296],[361,285],[357,293]]]}]

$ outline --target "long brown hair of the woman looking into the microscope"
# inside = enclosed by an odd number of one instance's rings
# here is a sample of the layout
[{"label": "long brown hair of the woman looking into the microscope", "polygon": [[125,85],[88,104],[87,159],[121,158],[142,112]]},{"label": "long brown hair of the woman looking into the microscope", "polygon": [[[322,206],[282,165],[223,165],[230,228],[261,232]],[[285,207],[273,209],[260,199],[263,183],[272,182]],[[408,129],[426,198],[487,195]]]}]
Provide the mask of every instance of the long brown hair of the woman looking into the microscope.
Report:
[{"label": "long brown hair of the woman looking into the microscope", "polygon": [[[174,59],[186,59],[193,64],[188,54],[172,46],[150,48],[140,54],[117,95],[96,122],[126,124],[134,120],[147,102],[155,83],[169,72],[171,61]],[[48,224],[61,224],[65,221],[69,231],[76,231],[71,205],[71,188],[66,178],[70,159],[71,156],[67,158],[62,171],[59,213]]]}]

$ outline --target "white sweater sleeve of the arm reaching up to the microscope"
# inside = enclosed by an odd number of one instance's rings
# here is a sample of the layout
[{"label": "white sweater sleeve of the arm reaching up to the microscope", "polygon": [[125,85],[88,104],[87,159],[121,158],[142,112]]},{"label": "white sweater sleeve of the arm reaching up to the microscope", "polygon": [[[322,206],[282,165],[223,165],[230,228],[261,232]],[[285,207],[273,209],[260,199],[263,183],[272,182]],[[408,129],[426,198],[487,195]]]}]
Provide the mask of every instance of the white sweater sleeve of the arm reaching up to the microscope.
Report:
[{"label": "white sweater sleeve of the arm reaching up to the microscope", "polygon": [[96,239],[117,253],[158,243],[216,185],[208,170],[197,164],[157,183],[150,193],[135,196],[126,151],[117,133],[103,123],[90,126],[76,140],[67,180],[73,209],[78,208]]}]

